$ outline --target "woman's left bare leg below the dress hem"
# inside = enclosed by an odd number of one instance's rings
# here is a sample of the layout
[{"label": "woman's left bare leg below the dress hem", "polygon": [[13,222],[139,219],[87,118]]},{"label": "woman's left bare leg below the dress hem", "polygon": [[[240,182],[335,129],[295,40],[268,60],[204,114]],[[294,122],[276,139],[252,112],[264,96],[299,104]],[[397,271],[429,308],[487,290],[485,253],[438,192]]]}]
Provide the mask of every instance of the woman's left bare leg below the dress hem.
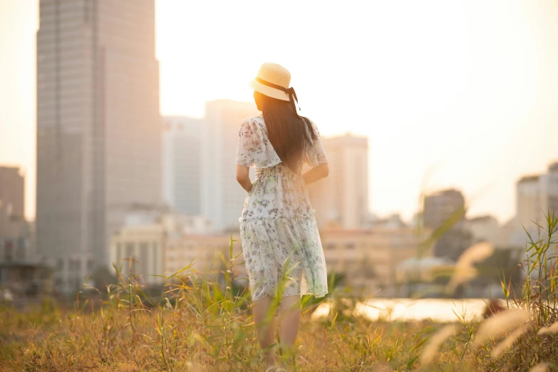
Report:
[{"label": "woman's left bare leg below the dress hem", "polygon": [[264,351],[264,361],[266,368],[275,366],[275,350],[270,348],[274,342],[275,334],[275,314],[270,310],[272,305],[272,297],[266,295],[261,299],[253,302],[252,311],[254,311],[254,323],[256,324],[256,331],[259,339],[259,345],[262,346]]}]

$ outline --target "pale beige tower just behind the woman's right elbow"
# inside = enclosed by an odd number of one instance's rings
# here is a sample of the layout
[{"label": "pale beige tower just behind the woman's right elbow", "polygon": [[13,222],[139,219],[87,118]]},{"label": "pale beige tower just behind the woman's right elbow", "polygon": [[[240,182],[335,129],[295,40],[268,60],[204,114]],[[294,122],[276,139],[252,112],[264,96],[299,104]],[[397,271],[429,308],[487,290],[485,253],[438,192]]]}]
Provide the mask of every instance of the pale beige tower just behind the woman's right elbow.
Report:
[{"label": "pale beige tower just behind the woman's right elbow", "polygon": [[346,134],[321,138],[329,175],[308,186],[320,228],[360,229],[369,219],[368,138]]}]

